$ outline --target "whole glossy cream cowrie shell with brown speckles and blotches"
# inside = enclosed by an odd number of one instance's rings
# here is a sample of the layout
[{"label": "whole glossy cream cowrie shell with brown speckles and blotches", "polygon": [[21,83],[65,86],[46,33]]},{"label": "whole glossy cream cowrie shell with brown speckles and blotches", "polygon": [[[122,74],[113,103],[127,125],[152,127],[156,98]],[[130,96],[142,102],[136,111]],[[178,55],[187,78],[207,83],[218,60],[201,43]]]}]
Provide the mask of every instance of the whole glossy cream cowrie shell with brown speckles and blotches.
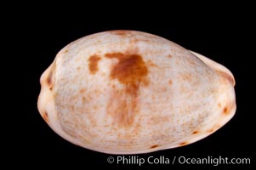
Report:
[{"label": "whole glossy cream cowrie shell with brown speckles and blotches", "polygon": [[141,31],[105,31],[71,42],[40,82],[38,110],[54,132],[111,154],[191,144],[236,111],[229,70]]}]

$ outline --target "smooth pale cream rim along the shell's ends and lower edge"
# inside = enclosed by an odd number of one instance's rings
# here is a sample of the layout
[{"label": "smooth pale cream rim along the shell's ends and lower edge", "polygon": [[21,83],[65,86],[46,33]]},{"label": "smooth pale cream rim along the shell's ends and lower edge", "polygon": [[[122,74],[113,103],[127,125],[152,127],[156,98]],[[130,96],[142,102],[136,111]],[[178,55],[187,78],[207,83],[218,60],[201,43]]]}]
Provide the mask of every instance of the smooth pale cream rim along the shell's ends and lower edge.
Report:
[{"label": "smooth pale cream rim along the shell's ends and lower edge", "polygon": [[[191,53],[196,55],[197,58],[201,59],[205,63],[205,65],[208,65],[208,67],[216,71],[220,77],[223,77],[224,84],[220,85],[220,86],[223,86],[220,88],[223,88],[224,94],[222,95],[221,99],[219,99],[219,101],[216,101],[216,102],[225,103],[225,105],[228,106],[228,111],[225,114],[222,114],[222,113],[216,114],[216,116],[213,116],[210,119],[206,120],[205,122],[202,122],[202,127],[198,129],[198,132],[196,134],[191,134],[183,139],[172,142],[171,144],[165,144],[165,145],[158,146],[156,148],[149,148],[149,149],[143,149],[143,150],[112,150],[112,149],[102,149],[102,148],[99,149],[99,147],[96,147],[96,146],[92,146],[89,144],[85,145],[81,141],[65,133],[65,131],[63,131],[63,128],[60,125],[60,120],[58,118],[57,111],[55,110],[54,93],[52,93],[51,91],[51,88],[53,87],[48,86],[49,74],[51,73],[52,76],[54,76],[54,69],[55,69],[55,62],[56,62],[55,60],[53,64],[50,65],[48,69],[43,73],[40,79],[42,89],[38,98],[38,104],[37,104],[38,110],[40,114],[43,116],[43,119],[48,123],[48,125],[54,130],[55,133],[58,133],[62,138],[70,141],[71,143],[80,145],[89,150],[96,150],[96,151],[110,153],[110,154],[139,154],[139,153],[152,152],[156,150],[166,150],[170,148],[179,147],[185,144],[191,144],[193,142],[196,142],[200,139],[207,137],[209,134],[214,133],[220,127],[225,125],[225,123],[229,122],[232,116],[234,116],[236,111],[235,92],[234,92],[234,88],[232,88],[235,85],[235,80],[231,72],[228,69],[226,69],[223,65],[219,65],[218,63],[202,56],[201,54],[196,54],[195,52],[191,52]],[[54,79],[52,79],[51,81],[54,81]],[[54,82],[51,82],[51,84],[54,84]],[[222,112],[222,111],[223,110],[219,110],[219,112]]]}]

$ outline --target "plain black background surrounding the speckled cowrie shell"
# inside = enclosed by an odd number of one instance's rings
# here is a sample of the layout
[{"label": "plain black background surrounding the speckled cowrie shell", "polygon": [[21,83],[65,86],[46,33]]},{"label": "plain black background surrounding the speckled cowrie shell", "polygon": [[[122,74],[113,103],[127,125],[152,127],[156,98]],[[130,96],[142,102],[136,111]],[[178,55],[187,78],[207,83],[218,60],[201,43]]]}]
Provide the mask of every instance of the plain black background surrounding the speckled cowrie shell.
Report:
[{"label": "plain black background surrounding the speckled cowrie shell", "polygon": [[[234,11],[233,11],[234,12]],[[235,10],[236,12],[236,10]],[[31,13],[33,14],[33,13]],[[136,155],[187,157],[249,157],[251,165],[132,165],[134,169],[249,169],[253,167],[253,150],[255,140],[253,119],[253,47],[249,42],[253,37],[250,20],[239,13],[213,15],[203,17],[202,14],[191,17],[190,14],[180,17],[177,15],[162,17],[126,17],[117,16],[91,18],[86,15],[83,20],[73,20],[72,17],[57,14],[57,16],[36,18],[22,15],[11,26],[9,64],[14,68],[12,77],[7,77],[10,92],[6,103],[9,106],[11,119],[4,129],[7,132],[5,141],[8,144],[6,158],[13,160],[10,167],[18,164],[20,167],[74,167],[87,169],[104,166],[111,169],[122,169],[127,165],[109,164],[108,154],[83,149],[71,144],[54,133],[43,121],[37,111],[37,97],[40,92],[39,78],[43,71],[52,63],[55,54],[69,42],[99,31],[137,30],[146,31],[165,37],[179,45],[203,54],[218,63],[225,65],[236,78],[236,115],[224,127],[206,139],[184,147],[161,150],[154,153]],[[150,21],[145,21],[149,20]],[[24,22],[23,22],[24,20]],[[163,20],[163,21],[159,21]],[[248,21],[247,21],[248,20]],[[139,23],[139,24],[138,24]],[[14,83],[11,83],[14,81]],[[255,99],[254,99],[255,100]],[[12,120],[12,121],[11,121]],[[14,120],[14,121],[13,121]],[[10,123],[11,122],[11,123]],[[14,126],[11,126],[14,125]],[[11,128],[11,127],[14,127]],[[12,130],[9,130],[12,129]],[[5,145],[4,145],[5,146]],[[10,147],[9,147],[10,146]],[[117,156],[113,156],[117,158]],[[128,157],[128,156],[126,156]],[[35,166],[36,165],[36,166]],[[160,167],[158,167],[160,166]],[[90,169],[90,168],[89,168]]]}]

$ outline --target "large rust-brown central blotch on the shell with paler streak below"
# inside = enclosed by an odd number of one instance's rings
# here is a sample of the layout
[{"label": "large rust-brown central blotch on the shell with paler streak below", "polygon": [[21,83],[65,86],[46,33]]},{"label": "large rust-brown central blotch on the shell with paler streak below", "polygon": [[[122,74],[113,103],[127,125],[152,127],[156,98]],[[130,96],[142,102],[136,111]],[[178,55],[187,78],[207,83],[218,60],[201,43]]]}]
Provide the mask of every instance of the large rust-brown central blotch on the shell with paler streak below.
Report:
[{"label": "large rust-brown central blotch on the shell with paler streak below", "polygon": [[122,89],[114,89],[111,93],[107,112],[114,116],[118,125],[128,127],[139,111],[139,87],[148,85],[148,69],[139,54],[112,53],[105,54],[105,57],[118,59],[111,68],[110,78],[123,85]]}]

